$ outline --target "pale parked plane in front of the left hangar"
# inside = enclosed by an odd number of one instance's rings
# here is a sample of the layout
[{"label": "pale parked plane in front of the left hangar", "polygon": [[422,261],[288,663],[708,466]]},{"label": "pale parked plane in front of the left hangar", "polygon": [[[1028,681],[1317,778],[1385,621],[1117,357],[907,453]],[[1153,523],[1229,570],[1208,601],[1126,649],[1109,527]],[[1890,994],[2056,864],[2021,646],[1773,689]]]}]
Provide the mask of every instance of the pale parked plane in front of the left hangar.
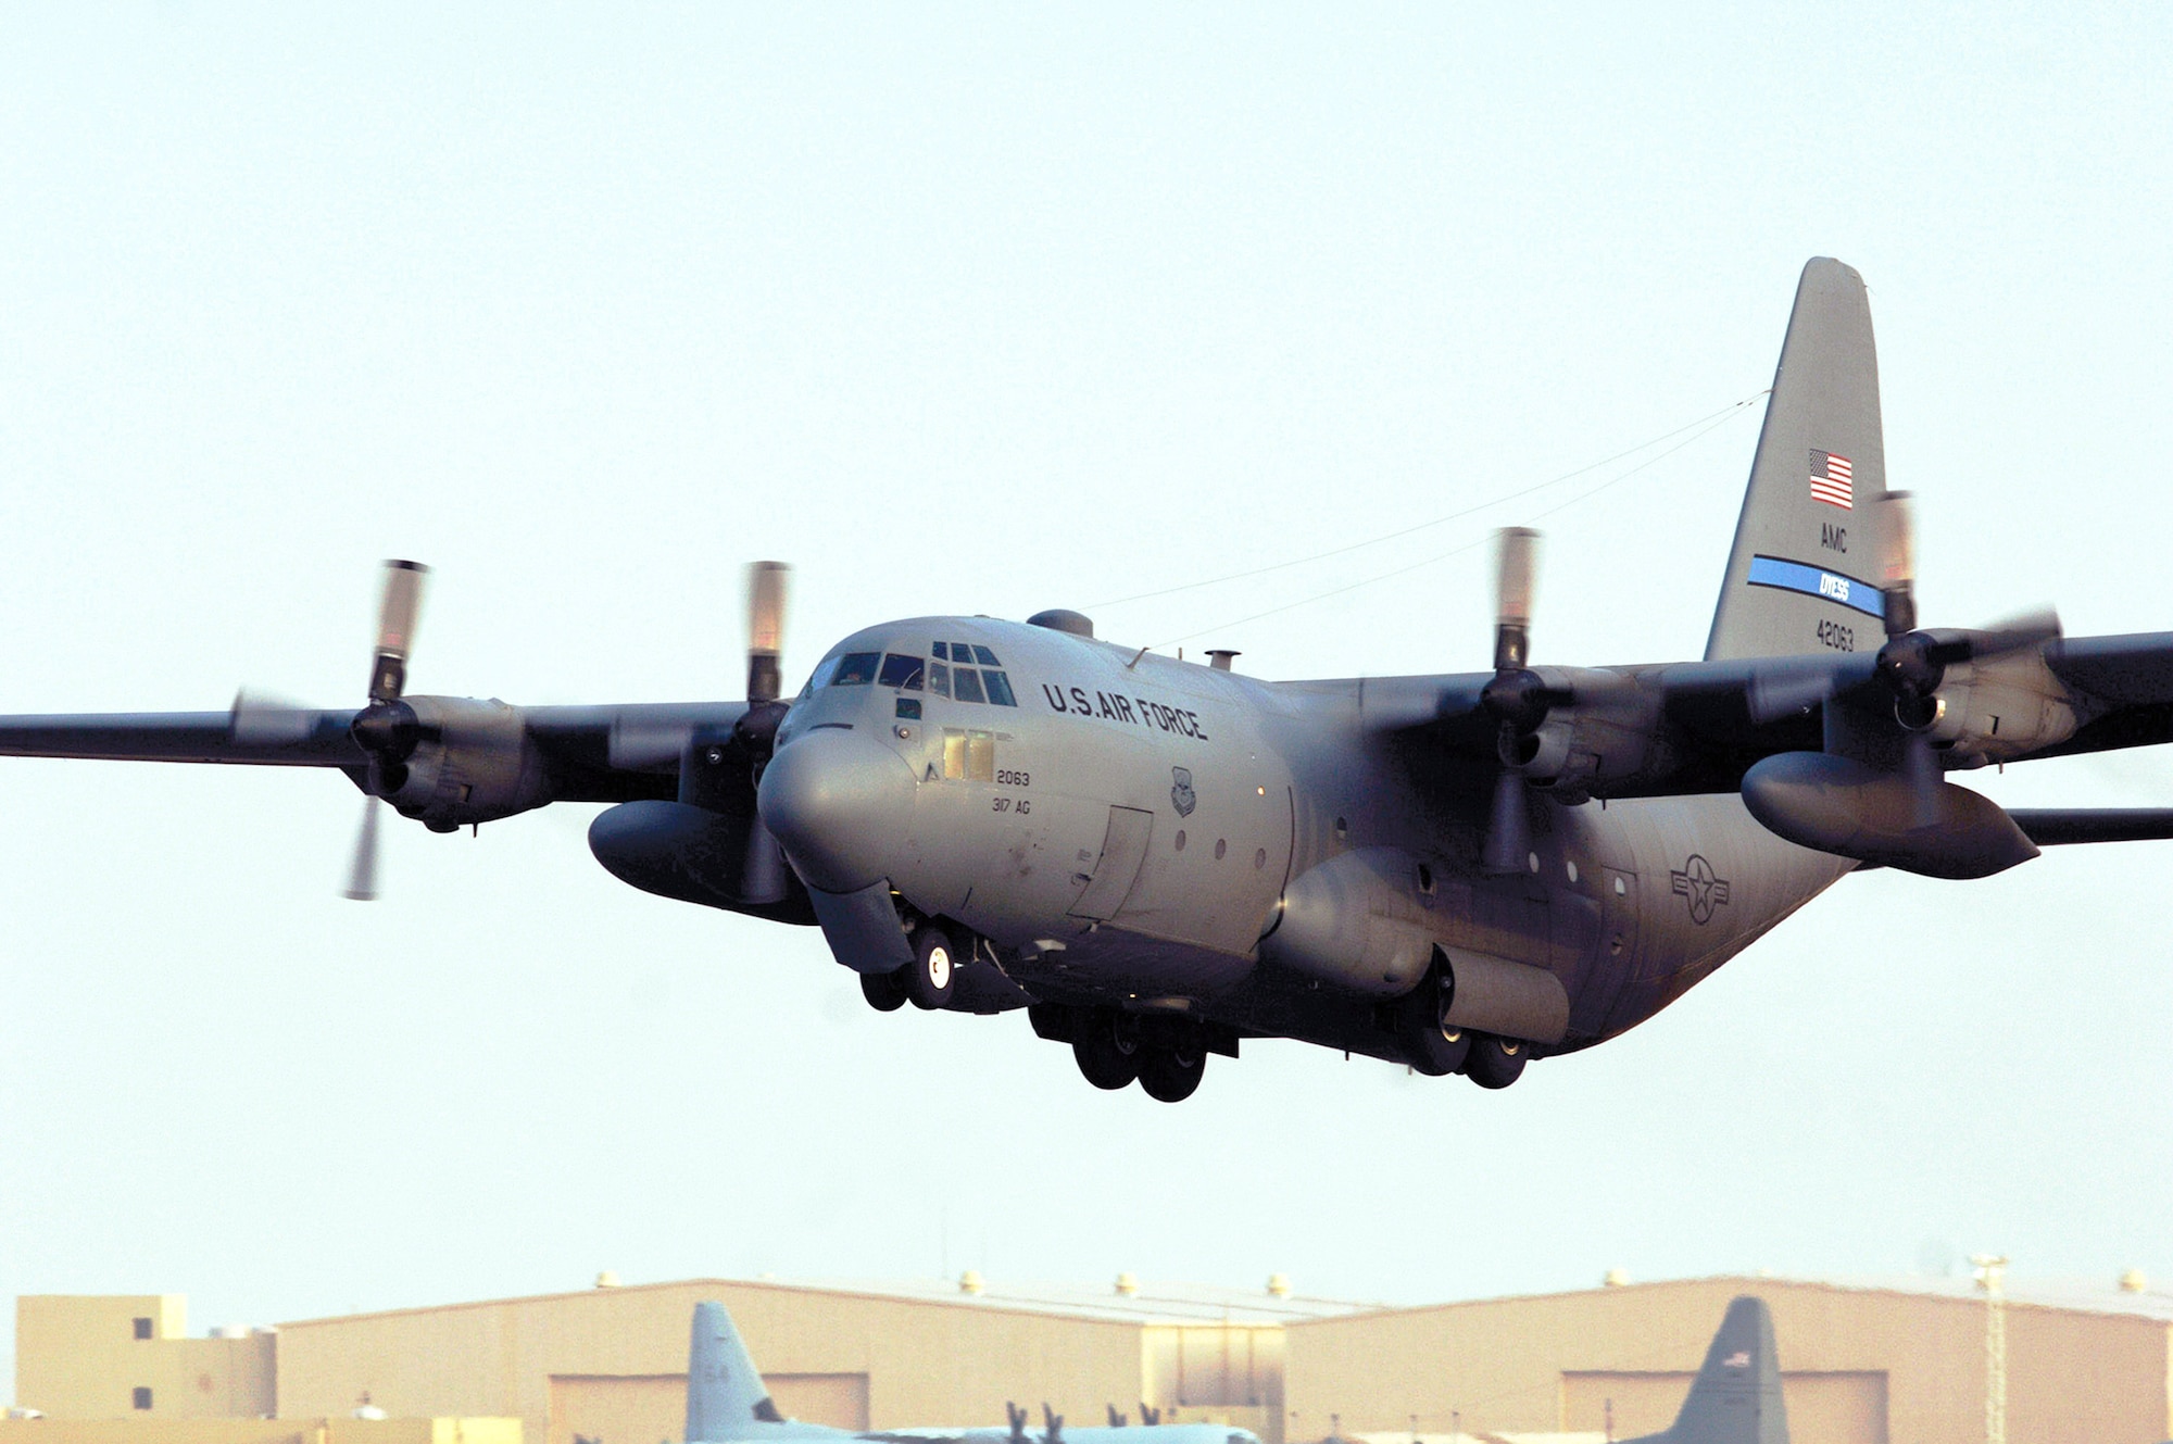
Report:
[{"label": "pale parked plane in front of the left hangar", "polygon": [[[1141,1405],[1143,1411],[1150,1411]],[[1095,1424],[1065,1429],[1060,1414],[1041,1407],[1043,1427],[1026,1427],[1026,1409],[1004,1405],[1006,1429],[878,1429],[852,1433],[830,1424],[802,1424],[778,1411],[754,1357],[739,1340],[721,1303],[693,1307],[693,1342],[687,1348],[687,1440],[684,1444],[1260,1444],[1249,1429],[1228,1424]],[[1115,1418],[1115,1409],[1110,1416]],[[1150,1411],[1152,1414],[1152,1411]],[[1786,1444],[1786,1440],[1782,1442]]]}]

